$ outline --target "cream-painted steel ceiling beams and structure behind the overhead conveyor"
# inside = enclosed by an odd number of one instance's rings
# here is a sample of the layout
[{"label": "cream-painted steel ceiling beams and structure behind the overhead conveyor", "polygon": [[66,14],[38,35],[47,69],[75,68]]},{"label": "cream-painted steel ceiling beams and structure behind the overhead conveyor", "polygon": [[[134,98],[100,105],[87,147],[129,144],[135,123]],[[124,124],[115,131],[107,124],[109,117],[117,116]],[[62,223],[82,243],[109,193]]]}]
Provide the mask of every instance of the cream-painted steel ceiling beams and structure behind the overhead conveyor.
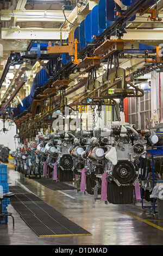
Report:
[{"label": "cream-painted steel ceiling beams and structure behind the overhead conveyor", "polygon": [[[83,2],[83,1],[82,1]],[[116,1],[115,1],[116,2]],[[76,1],[31,1],[31,0],[3,0],[0,1],[1,13],[1,39],[0,39],[0,77],[3,78],[4,70],[7,67],[8,59],[12,53],[22,53],[27,51],[27,48],[32,40],[60,40],[66,39],[71,29],[71,24],[65,20],[78,26],[90,13],[92,8],[98,4],[98,1],[85,1],[85,4],[76,5]],[[62,7],[66,5],[63,13]],[[128,44],[127,49],[131,47],[139,47],[139,43],[152,46],[163,45],[163,0],[156,1],[152,9],[157,7],[159,18],[156,21],[150,17],[152,15],[140,14],[136,15],[136,19],[126,24],[126,34],[123,39],[135,40],[134,46]],[[64,16],[65,15],[65,16]],[[149,17],[150,16],[150,17]],[[66,21],[66,22],[65,22]],[[64,23],[65,22],[65,23]],[[60,29],[64,23],[64,28]],[[60,33],[61,31],[61,33]],[[130,58],[129,56],[134,58]],[[129,58],[128,58],[129,57]],[[42,63],[46,60],[36,61],[35,63],[26,62],[18,63],[10,66],[6,76],[4,77],[1,89],[0,99],[1,104],[13,93],[15,85],[20,81],[21,77],[26,77],[21,90],[12,100],[12,106],[16,106],[30,92],[33,79],[36,73],[42,68]],[[126,54],[120,59],[120,66],[126,69],[127,74],[130,74],[137,69],[145,66],[145,59],[136,53]],[[101,69],[99,75],[102,75],[105,67]],[[148,72],[146,76],[137,76],[139,82],[149,80]]]}]

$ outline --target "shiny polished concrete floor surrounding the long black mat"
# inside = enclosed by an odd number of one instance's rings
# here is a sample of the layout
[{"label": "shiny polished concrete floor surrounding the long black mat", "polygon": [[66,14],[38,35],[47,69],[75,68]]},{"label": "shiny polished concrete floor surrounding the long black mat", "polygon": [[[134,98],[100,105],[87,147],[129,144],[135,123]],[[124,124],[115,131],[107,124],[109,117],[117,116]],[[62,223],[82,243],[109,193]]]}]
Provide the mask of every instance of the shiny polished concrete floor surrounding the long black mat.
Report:
[{"label": "shiny polished concrete floor surrounding the long black mat", "polygon": [[10,217],[8,224],[0,224],[0,245],[163,245],[163,221],[149,211],[143,212],[141,202],[106,205],[76,190],[49,190],[9,168],[8,182],[9,186],[20,185],[33,192],[92,235],[39,237],[10,204],[8,212],[14,215],[15,228]]}]

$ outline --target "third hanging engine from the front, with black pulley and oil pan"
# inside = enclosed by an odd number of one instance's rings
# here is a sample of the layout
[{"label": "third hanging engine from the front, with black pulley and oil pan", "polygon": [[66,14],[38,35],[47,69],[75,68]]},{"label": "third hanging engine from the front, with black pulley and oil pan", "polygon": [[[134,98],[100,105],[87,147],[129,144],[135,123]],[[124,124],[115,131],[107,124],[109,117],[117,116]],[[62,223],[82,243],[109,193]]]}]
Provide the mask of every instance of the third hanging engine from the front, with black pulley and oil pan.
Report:
[{"label": "third hanging engine from the front, with black pulley and oil pan", "polygon": [[[48,178],[54,180],[54,169],[57,164],[57,174],[60,181],[70,181],[73,177],[73,160],[68,154],[73,139],[72,133],[59,131],[58,133],[49,133],[48,135],[39,136],[39,144],[37,145],[37,154],[40,155],[40,161],[43,166],[47,165]],[[46,175],[46,174],[45,174]],[[71,178],[67,178],[71,176]]]}]

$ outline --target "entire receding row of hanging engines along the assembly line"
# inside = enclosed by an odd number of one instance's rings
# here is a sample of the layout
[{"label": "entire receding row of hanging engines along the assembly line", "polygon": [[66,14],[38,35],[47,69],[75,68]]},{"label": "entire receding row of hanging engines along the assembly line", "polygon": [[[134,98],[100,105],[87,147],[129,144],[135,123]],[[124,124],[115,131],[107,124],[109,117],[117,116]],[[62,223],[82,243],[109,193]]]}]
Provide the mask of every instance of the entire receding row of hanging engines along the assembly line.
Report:
[{"label": "entire receding row of hanging engines along the assembly line", "polygon": [[[91,186],[101,187],[103,174],[108,184],[117,187],[135,186],[139,180],[140,157],[146,157],[146,148],[158,143],[153,131],[136,131],[120,121],[92,131],[39,134],[36,141],[24,143],[12,153],[23,172],[43,174],[45,164],[49,178],[53,177],[57,163],[60,181],[71,181],[73,174],[93,180]],[[16,164],[16,163],[15,163]],[[30,169],[30,170],[29,170]],[[59,173],[71,173],[71,179],[61,180]],[[90,192],[91,193],[91,192]]]}]

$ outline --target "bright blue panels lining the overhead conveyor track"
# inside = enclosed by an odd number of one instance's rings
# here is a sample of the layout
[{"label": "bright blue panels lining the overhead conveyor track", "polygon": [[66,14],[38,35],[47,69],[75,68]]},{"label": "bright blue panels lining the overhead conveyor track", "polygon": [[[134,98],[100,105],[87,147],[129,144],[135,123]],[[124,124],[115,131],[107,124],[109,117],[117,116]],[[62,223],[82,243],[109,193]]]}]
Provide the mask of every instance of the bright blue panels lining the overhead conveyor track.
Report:
[{"label": "bright blue panels lining the overhead conveyor track", "polygon": [[[85,20],[74,29],[73,38],[77,39],[77,59],[84,59],[92,48],[97,48],[109,38],[111,35],[117,35],[121,38],[123,33],[126,33],[126,22],[135,20],[136,13],[145,7],[154,4],[154,0],[122,0],[126,5],[126,10],[121,10],[120,6],[114,0],[100,0],[99,3],[92,9]],[[68,39],[66,39],[68,45]],[[41,47],[45,48],[46,44],[37,44],[37,55],[41,56]],[[53,46],[52,46],[53,47]],[[153,50],[153,49],[152,49]],[[49,59],[49,56],[52,56]],[[22,55],[23,58],[23,55]],[[32,105],[35,97],[36,89],[45,87],[46,84],[59,79],[61,76],[67,77],[76,68],[72,56],[68,52],[62,53],[60,61],[57,54],[48,54],[46,68],[39,71],[34,78],[30,94],[23,99],[23,107],[21,104],[14,109],[14,116],[17,117]],[[55,70],[53,66],[55,64]]]}]

